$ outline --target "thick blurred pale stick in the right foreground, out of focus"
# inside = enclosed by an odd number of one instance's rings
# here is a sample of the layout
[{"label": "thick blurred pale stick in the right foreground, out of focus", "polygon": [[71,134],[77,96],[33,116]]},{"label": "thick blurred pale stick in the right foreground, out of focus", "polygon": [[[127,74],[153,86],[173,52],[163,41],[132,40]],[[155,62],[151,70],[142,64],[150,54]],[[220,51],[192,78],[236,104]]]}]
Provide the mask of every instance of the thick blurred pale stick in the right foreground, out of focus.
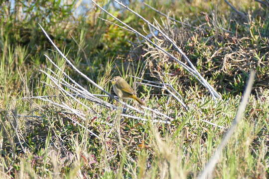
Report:
[{"label": "thick blurred pale stick in the right foreground, out of focus", "polygon": [[198,179],[208,179],[208,178],[212,178],[213,176],[213,170],[221,156],[222,150],[223,148],[226,146],[226,144],[228,143],[229,139],[232,137],[233,133],[236,131],[237,129],[237,125],[239,124],[240,120],[243,118],[244,116],[244,111],[246,109],[246,106],[248,104],[248,100],[249,100],[249,96],[251,93],[251,89],[252,89],[252,85],[254,82],[254,77],[255,77],[255,72],[251,72],[250,78],[249,78],[249,82],[247,85],[247,88],[245,90],[243,99],[240,103],[240,106],[237,110],[237,114],[236,117],[234,119],[234,122],[232,124],[232,126],[230,127],[229,131],[226,133],[226,135],[224,136],[224,138],[222,139],[220,145],[218,146],[215,154],[211,157],[209,163],[205,166],[204,170],[201,172],[200,176],[198,177]]}]

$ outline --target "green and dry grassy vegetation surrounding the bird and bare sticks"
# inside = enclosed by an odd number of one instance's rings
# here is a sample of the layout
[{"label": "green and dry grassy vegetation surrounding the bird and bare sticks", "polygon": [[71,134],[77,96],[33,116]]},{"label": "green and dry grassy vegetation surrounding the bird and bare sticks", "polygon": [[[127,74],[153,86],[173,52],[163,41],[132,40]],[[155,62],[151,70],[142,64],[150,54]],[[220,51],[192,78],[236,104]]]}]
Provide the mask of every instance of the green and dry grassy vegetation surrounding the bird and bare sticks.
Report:
[{"label": "green and dry grassy vegetation surrounding the bird and bare sticks", "polygon": [[[102,20],[116,23],[93,4],[80,0],[0,0],[0,178],[197,178],[233,125],[252,70],[256,78],[244,118],[222,151],[213,178],[268,178],[268,1],[229,2],[245,15],[240,16],[220,0],[146,1],[180,23],[142,2],[129,4],[163,28],[182,49],[221,94],[221,99],[214,100],[205,87],[156,47]],[[106,0],[98,3],[144,35],[151,33],[134,13]],[[78,7],[83,12],[78,13]],[[123,108],[108,96],[99,98],[115,105],[114,109],[60,90],[71,91],[61,79],[77,86],[64,71],[90,93],[105,94],[62,58],[38,24],[97,85],[113,93],[109,80],[122,76],[155,112],[133,100],[126,102],[144,114]],[[187,64],[162,35],[151,39]],[[146,82],[133,76],[159,83],[160,88],[142,85]],[[171,85],[188,109],[162,84]],[[167,121],[156,111],[172,118],[170,123],[154,122]]]}]

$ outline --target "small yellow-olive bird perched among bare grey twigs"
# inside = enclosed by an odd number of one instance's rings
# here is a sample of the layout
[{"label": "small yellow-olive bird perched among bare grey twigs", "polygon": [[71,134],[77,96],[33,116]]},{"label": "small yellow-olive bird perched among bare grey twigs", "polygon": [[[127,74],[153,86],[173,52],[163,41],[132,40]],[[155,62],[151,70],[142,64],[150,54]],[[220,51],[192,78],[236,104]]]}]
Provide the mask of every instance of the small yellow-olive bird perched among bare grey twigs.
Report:
[{"label": "small yellow-olive bird perched among bare grey twigs", "polygon": [[137,102],[139,102],[139,104],[145,105],[145,103],[141,99],[136,97],[134,90],[122,77],[113,77],[111,83],[113,85],[113,90],[117,94],[117,96],[121,98],[133,98]]}]

